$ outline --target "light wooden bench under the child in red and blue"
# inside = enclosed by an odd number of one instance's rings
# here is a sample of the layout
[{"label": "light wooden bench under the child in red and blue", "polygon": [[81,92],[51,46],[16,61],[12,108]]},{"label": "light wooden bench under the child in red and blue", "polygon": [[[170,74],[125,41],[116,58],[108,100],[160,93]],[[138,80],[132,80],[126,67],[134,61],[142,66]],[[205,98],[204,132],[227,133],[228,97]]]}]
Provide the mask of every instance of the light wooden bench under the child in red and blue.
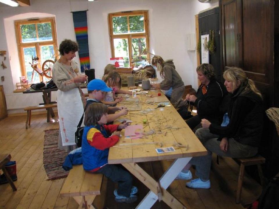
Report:
[{"label": "light wooden bench under the child in red and blue", "polygon": [[83,165],[74,165],[62,186],[60,196],[73,197],[84,208],[103,208],[107,183],[105,179],[103,174],[92,174],[83,170]]}]

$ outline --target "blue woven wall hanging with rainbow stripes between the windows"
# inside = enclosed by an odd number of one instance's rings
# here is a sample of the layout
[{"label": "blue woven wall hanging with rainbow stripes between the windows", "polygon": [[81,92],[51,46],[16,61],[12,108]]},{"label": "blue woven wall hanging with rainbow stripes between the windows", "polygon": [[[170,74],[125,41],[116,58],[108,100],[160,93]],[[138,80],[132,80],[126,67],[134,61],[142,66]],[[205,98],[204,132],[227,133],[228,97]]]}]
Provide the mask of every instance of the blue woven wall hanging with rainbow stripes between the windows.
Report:
[{"label": "blue woven wall hanging with rainbow stripes between the windows", "polygon": [[90,69],[90,58],[88,48],[88,33],[87,33],[87,10],[72,12],[74,19],[74,28],[76,33],[76,41],[78,42],[78,56],[81,62],[81,72],[84,69]]}]

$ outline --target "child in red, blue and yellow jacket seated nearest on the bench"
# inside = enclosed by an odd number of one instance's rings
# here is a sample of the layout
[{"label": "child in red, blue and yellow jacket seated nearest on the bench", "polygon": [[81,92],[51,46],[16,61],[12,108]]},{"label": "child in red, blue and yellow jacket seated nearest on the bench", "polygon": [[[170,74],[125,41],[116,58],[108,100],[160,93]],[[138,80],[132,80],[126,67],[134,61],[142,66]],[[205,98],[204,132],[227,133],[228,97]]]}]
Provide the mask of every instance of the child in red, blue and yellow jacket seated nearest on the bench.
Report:
[{"label": "child in red, blue and yellow jacket seated nearest on the bench", "polygon": [[109,148],[115,145],[120,136],[119,130],[127,124],[105,125],[108,107],[94,102],[85,111],[82,138],[83,169],[93,173],[102,173],[112,181],[118,182],[114,191],[117,202],[132,203],[137,200],[137,188],[132,185],[130,173],[119,165],[108,164]]}]

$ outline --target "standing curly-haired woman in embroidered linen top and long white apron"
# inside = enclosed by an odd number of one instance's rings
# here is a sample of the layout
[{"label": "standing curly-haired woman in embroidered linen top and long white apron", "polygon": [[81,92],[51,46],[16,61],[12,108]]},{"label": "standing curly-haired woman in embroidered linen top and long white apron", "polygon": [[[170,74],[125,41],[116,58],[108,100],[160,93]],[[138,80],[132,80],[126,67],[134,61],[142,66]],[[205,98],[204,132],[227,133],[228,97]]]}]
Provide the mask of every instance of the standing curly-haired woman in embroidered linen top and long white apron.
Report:
[{"label": "standing curly-haired woman in embroidered linen top and long white apron", "polygon": [[83,114],[85,97],[80,83],[87,80],[80,75],[77,63],[72,60],[78,51],[78,44],[65,39],[59,46],[60,59],[53,65],[53,81],[58,87],[57,108],[59,116],[58,147],[70,152],[76,146],[75,131]]}]

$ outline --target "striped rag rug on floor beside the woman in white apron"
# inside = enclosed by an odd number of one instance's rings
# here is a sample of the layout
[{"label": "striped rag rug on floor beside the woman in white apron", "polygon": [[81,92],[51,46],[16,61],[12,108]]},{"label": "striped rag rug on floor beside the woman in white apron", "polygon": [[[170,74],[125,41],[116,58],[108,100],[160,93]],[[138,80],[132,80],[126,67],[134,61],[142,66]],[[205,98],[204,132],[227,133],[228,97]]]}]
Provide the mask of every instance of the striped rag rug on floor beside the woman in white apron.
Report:
[{"label": "striped rag rug on floor beside the woman in white apron", "polygon": [[49,180],[65,178],[69,171],[62,168],[67,152],[58,149],[59,129],[44,131],[43,163]]}]

